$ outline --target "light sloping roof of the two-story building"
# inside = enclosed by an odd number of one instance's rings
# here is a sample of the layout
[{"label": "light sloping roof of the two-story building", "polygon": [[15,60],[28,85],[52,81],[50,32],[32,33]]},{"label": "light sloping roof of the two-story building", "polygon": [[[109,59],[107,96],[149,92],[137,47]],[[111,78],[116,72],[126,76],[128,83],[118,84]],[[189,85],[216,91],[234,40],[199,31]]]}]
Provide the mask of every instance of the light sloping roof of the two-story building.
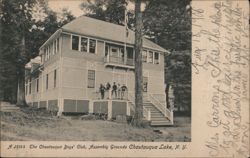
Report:
[{"label": "light sloping roof of the two-story building", "polygon": [[[96,38],[122,42],[126,40],[128,44],[134,44],[135,32],[129,30],[128,37],[125,39],[125,27],[109,23],[86,16],[80,16],[70,23],[64,25],[62,28],[63,32],[70,32],[75,34],[82,34],[86,36],[92,36]],[[168,52],[161,46],[151,42],[150,40],[143,38],[143,47],[161,52]]]}]

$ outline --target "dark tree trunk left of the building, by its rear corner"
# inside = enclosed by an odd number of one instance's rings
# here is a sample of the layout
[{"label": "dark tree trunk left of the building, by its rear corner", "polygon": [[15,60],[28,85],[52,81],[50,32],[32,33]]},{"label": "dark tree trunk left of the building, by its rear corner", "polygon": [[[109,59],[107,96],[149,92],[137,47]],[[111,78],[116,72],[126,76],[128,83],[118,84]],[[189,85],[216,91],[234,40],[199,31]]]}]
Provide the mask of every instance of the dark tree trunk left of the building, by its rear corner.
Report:
[{"label": "dark tree trunk left of the building, by its rear corner", "polygon": [[21,39],[21,50],[19,56],[19,70],[17,76],[17,105],[26,106],[25,101],[25,36],[22,36]]}]

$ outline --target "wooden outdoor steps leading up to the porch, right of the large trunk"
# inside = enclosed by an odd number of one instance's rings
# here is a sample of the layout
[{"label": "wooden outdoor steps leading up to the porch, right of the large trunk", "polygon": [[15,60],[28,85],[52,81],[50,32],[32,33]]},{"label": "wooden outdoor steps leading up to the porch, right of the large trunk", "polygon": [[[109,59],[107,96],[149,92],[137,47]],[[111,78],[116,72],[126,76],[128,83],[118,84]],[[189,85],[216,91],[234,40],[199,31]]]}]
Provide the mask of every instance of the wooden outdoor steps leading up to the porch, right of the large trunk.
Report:
[{"label": "wooden outdoor steps leading up to the porch, right of the large trunk", "polygon": [[162,112],[157,109],[151,102],[144,102],[143,106],[150,110],[151,114],[151,126],[167,126],[172,125],[171,121],[162,114]]}]

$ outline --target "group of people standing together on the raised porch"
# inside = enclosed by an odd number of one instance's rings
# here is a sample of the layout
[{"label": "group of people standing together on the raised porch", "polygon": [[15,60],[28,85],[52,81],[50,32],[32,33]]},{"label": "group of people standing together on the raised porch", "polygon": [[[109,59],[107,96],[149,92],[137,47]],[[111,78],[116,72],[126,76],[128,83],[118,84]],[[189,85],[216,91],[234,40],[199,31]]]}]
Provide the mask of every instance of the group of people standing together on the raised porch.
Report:
[{"label": "group of people standing together on the raised porch", "polygon": [[113,83],[112,87],[109,82],[104,86],[100,84],[99,92],[101,94],[101,99],[104,99],[105,93],[107,95],[107,99],[125,99],[126,92],[128,88],[125,84],[120,85],[119,83]]}]

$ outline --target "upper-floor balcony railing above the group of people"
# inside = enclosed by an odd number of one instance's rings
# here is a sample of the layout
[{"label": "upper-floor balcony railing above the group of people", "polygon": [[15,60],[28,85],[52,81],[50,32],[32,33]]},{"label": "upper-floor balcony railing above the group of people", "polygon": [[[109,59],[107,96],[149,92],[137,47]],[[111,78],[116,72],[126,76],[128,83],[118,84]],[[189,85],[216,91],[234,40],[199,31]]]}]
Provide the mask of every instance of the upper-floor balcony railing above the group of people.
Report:
[{"label": "upper-floor balcony railing above the group of people", "polygon": [[113,66],[129,66],[134,67],[134,60],[129,58],[122,58],[116,56],[106,56],[104,57],[104,63]]}]

